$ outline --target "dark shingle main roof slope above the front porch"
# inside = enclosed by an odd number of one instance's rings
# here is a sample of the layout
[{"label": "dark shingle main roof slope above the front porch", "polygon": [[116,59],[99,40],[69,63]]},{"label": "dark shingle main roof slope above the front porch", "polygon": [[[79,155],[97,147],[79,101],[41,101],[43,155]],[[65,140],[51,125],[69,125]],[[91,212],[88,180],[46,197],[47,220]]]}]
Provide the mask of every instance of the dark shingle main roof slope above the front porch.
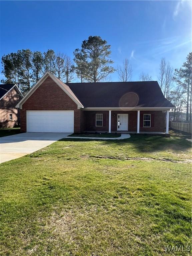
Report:
[{"label": "dark shingle main roof slope above the front porch", "polygon": [[157,81],[67,83],[84,107],[174,107]]}]

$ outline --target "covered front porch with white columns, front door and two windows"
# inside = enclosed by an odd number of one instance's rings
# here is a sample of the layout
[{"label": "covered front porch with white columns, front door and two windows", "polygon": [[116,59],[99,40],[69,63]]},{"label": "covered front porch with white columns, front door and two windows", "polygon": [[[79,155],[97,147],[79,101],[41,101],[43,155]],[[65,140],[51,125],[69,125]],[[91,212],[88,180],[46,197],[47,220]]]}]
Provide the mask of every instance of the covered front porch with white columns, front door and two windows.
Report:
[{"label": "covered front porch with white columns, front door and two windows", "polygon": [[[83,110],[82,132],[166,135],[169,110]],[[165,127],[166,120],[166,127]]]}]

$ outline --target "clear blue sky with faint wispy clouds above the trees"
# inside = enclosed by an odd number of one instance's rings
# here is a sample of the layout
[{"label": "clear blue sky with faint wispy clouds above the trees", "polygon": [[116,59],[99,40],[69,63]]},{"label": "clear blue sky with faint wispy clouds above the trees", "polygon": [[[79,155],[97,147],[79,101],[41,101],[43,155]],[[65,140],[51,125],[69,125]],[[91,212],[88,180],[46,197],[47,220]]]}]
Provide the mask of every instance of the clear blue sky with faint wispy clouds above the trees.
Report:
[{"label": "clear blue sky with faint wispy clouds above the trees", "polygon": [[0,15],[1,57],[29,48],[73,58],[83,40],[99,35],[115,68],[129,58],[133,80],[141,72],[157,80],[162,57],[179,68],[191,51],[190,1],[1,1]]}]

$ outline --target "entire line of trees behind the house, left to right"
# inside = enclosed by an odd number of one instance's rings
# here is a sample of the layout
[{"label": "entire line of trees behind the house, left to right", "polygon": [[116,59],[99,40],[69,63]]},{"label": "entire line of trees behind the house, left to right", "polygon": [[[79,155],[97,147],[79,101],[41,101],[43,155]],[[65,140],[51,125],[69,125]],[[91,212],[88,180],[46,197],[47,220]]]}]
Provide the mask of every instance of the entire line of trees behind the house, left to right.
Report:
[{"label": "entire line of trees behind the house, left to right", "polygon": [[[29,49],[18,50],[2,57],[2,73],[5,80],[2,83],[15,83],[25,94],[46,72],[50,71],[65,83],[73,82],[78,78],[80,82],[109,81],[109,75],[118,72],[119,81],[132,80],[132,66],[125,58],[115,69],[111,65],[111,46],[99,36],[89,36],[81,44],[81,48],[73,52],[74,59],[64,53],[55,53]],[[158,82],[164,96],[171,101],[176,109],[173,119],[178,120],[181,112],[186,112],[186,120],[192,118],[192,53],[179,69],[173,69],[169,61],[161,59],[159,65]],[[142,72],[140,81],[151,81],[149,74]]]}]

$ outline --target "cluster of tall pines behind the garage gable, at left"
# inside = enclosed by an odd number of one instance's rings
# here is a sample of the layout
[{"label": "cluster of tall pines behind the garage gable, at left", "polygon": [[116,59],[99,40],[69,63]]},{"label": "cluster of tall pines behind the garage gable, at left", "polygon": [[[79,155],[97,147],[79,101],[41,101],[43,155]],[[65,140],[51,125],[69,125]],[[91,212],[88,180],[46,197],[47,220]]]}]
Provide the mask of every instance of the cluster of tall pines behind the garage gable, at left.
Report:
[{"label": "cluster of tall pines behind the garage gable, at left", "polygon": [[26,93],[47,71],[69,83],[73,80],[73,65],[69,56],[55,53],[53,50],[41,53],[29,49],[18,50],[2,57],[3,71],[6,80],[3,83],[17,84]]}]

